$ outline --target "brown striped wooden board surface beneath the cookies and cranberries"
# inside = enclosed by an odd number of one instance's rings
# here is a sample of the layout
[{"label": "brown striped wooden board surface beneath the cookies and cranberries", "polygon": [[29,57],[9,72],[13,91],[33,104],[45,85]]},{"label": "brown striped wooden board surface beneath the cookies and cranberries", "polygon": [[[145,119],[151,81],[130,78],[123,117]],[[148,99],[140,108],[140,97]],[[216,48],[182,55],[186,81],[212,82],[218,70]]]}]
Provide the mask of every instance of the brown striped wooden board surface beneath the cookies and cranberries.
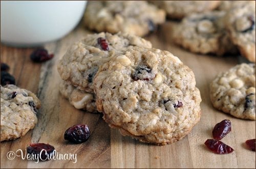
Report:
[{"label": "brown striped wooden board surface beneath the cookies and cranberries", "polygon": [[[212,107],[209,100],[209,83],[218,73],[237,65],[239,57],[194,54],[175,46],[169,36],[171,25],[166,22],[145,39],[150,40],[155,48],[172,52],[195,73],[202,97],[202,116],[187,136],[166,146],[140,143],[111,129],[100,114],[77,110],[61,97],[56,65],[73,42],[90,33],[80,25],[65,38],[45,45],[55,57],[43,64],[31,62],[29,55],[34,48],[14,48],[1,44],[1,62],[10,66],[16,85],[36,93],[42,102],[35,128],[22,138],[1,143],[1,168],[255,168],[255,152],[245,146],[245,140],[255,138],[255,121],[224,114]],[[215,124],[224,119],[231,121],[232,131],[222,141],[235,151],[216,155],[206,149],[204,142],[212,138]],[[68,127],[79,123],[89,125],[90,139],[78,145],[67,143],[63,133]],[[25,153],[30,143],[49,143],[60,154],[77,154],[77,161],[35,163],[17,156],[12,160],[7,158],[9,151],[22,149]]]}]

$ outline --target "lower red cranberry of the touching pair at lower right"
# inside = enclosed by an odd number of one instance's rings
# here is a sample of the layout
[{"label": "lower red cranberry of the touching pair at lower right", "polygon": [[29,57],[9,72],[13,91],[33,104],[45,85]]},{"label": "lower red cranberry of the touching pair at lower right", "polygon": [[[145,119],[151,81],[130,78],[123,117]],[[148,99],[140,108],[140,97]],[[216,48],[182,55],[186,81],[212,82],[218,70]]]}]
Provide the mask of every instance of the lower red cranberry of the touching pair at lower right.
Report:
[{"label": "lower red cranberry of the touching pair at lower right", "polygon": [[216,154],[229,154],[234,151],[231,147],[224,144],[220,140],[207,139],[204,144],[208,149],[210,149],[210,151]]}]

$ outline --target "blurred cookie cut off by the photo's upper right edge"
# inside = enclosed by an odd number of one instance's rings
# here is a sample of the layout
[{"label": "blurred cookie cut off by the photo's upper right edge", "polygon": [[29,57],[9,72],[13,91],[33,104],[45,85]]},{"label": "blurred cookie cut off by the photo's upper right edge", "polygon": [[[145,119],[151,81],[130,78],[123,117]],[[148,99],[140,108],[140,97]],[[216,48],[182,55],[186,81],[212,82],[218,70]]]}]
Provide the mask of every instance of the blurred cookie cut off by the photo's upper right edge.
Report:
[{"label": "blurred cookie cut off by the photo's upper right edge", "polygon": [[231,9],[225,18],[232,42],[245,58],[255,62],[255,1]]}]

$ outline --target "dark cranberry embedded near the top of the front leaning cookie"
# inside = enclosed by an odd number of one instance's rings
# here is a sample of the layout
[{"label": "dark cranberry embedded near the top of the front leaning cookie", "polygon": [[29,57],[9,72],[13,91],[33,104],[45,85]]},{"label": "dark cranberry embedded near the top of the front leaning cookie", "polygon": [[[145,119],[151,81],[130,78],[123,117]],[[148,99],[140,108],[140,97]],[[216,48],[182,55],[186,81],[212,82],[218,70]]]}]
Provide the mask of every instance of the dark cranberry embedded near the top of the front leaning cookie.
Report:
[{"label": "dark cranberry embedded near the top of the front leaning cookie", "polygon": [[152,69],[147,66],[138,67],[133,73],[134,80],[152,80],[155,78],[155,74],[152,73]]}]

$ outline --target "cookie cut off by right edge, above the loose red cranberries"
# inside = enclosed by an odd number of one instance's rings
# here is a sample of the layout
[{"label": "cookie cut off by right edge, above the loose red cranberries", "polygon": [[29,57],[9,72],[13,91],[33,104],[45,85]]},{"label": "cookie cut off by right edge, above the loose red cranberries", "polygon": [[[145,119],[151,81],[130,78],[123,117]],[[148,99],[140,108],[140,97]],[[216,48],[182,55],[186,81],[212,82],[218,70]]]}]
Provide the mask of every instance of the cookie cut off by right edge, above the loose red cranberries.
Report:
[{"label": "cookie cut off by right edge, above the loose red cranberries", "polygon": [[210,84],[214,107],[241,119],[255,120],[255,64],[237,65]]}]

